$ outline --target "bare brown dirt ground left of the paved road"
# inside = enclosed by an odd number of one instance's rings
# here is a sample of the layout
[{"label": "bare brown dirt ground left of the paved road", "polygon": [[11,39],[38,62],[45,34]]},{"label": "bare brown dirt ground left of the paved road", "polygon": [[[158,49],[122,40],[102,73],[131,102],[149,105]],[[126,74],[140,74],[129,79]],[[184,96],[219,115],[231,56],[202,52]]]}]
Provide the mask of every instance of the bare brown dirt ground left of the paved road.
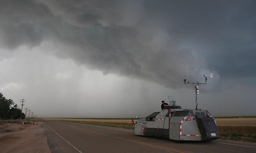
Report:
[{"label": "bare brown dirt ground left of the paved road", "polygon": [[1,152],[51,152],[42,122],[0,125]]}]

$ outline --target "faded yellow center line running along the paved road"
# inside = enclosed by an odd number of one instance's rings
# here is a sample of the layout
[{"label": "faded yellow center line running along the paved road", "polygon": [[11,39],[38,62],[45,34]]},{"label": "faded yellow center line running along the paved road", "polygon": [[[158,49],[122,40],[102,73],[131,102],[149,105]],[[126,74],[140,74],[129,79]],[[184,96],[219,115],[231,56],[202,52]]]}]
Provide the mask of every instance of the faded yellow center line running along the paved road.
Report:
[{"label": "faded yellow center line running along the paved road", "polygon": [[171,147],[166,147],[166,146],[160,146],[160,145],[155,145],[155,144],[150,144],[150,143],[144,143],[144,142],[129,140],[129,139],[120,138],[120,137],[116,137],[116,136],[112,136],[112,135],[107,135],[107,134],[103,134],[103,133],[98,133],[98,132],[93,131],[93,130],[86,130],[86,129],[77,128],[77,127],[72,126],[72,125],[68,125],[68,126],[71,126],[71,127],[75,128],[75,129],[80,129],[80,130],[83,130],[83,131],[88,131],[88,132],[90,132],[90,133],[95,133],[95,134],[99,134],[99,135],[104,135],[104,136],[107,136],[107,137],[110,137],[110,138],[115,138],[115,139],[119,139],[119,140],[129,141],[129,142],[132,142],[132,143],[141,144],[141,145],[146,145],[146,146],[151,146],[151,147],[157,147],[157,148],[160,148],[160,149],[163,149],[163,150],[170,150],[170,151],[174,151],[174,152],[185,153],[184,151],[176,150],[176,149],[173,149],[173,148],[171,148]]}]

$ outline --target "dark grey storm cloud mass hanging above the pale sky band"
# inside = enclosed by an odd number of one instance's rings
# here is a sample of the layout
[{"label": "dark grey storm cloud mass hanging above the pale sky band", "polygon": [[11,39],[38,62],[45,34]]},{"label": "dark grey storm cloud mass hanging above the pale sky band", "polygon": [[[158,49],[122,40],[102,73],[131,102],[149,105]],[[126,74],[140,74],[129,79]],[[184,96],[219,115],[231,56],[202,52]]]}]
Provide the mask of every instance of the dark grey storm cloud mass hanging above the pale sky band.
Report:
[{"label": "dark grey storm cloud mass hanging above the pale sky band", "polygon": [[254,1],[1,1],[0,43],[53,41],[62,47],[45,52],[105,74],[178,87],[213,72],[217,85],[217,71],[255,74],[254,8]]}]

